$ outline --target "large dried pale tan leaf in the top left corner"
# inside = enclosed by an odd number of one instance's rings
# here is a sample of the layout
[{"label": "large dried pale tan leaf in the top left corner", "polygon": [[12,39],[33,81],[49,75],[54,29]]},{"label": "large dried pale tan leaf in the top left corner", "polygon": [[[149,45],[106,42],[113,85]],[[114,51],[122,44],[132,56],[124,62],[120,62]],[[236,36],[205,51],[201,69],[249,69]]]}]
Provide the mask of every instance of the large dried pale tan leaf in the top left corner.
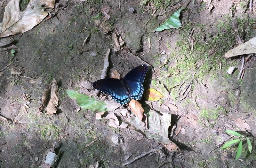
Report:
[{"label": "large dried pale tan leaf in the top left corner", "polygon": [[54,8],[54,3],[55,0],[30,0],[27,8],[20,11],[20,0],[11,0],[5,7],[0,37],[31,30],[48,15],[46,9]]}]

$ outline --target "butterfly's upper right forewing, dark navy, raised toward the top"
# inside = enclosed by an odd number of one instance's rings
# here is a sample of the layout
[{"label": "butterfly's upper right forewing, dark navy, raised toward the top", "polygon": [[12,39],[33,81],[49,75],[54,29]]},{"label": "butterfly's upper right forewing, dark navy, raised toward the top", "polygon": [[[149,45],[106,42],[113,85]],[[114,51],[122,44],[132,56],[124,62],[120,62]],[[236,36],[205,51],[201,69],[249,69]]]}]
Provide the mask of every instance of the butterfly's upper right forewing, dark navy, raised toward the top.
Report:
[{"label": "butterfly's upper right forewing, dark navy, raised toward the top", "polygon": [[137,66],[124,76],[124,80],[130,81],[130,82],[143,83],[147,71],[148,71],[148,65]]}]

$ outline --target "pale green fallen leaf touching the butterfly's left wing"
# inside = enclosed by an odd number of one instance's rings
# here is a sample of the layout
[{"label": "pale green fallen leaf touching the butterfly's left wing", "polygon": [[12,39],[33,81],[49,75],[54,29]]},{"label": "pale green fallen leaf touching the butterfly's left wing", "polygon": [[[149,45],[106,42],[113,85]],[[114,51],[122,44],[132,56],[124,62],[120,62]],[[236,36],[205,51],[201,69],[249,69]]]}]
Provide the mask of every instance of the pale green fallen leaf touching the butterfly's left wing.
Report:
[{"label": "pale green fallen leaf touching the butterfly's left wing", "polygon": [[67,90],[70,98],[76,99],[76,103],[84,109],[91,109],[92,111],[108,111],[107,104],[102,101],[97,101],[93,97],[77,92],[75,90]]}]

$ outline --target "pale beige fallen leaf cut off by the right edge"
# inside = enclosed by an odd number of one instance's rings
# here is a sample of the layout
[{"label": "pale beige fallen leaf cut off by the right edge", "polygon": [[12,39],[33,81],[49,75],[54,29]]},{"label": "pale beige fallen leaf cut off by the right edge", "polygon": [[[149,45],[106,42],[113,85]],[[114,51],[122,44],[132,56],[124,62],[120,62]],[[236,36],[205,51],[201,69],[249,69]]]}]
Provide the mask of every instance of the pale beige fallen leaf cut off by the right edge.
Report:
[{"label": "pale beige fallen leaf cut off by the right edge", "polygon": [[225,54],[225,57],[235,57],[243,54],[253,54],[256,53],[256,37],[253,37],[248,42],[240,44],[234,49],[228,50]]}]

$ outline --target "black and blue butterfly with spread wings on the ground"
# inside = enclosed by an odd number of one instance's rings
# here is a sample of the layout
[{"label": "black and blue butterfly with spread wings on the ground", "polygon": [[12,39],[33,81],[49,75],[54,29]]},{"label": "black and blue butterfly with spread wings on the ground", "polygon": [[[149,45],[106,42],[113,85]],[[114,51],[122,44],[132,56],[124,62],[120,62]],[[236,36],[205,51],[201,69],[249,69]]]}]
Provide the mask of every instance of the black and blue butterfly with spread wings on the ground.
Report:
[{"label": "black and blue butterfly with spread wings on the ground", "polygon": [[113,100],[121,105],[130,102],[131,99],[139,100],[143,94],[144,82],[148,65],[140,65],[128,72],[124,78],[100,79],[92,83],[93,88],[110,95]]}]

